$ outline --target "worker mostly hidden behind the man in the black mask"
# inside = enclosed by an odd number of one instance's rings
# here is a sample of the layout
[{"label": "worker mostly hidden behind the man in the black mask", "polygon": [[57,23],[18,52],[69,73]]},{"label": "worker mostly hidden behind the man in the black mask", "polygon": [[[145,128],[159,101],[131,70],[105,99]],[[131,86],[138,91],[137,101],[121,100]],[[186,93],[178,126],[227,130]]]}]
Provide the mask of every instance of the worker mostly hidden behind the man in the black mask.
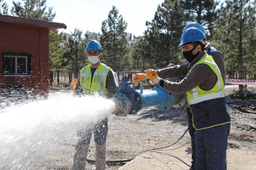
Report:
[{"label": "worker mostly hidden behind the man in the black mask", "polygon": [[[199,23],[196,22],[191,22],[189,24],[187,24],[183,30],[183,32],[191,27],[195,27],[200,29],[203,33],[205,32],[205,29],[203,28],[203,26]],[[220,69],[220,73],[221,73],[221,77],[223,80],[223,83],[225,85],[225,78],[226,78],[226,67],[225,67],[225,61],[224,61],[224,56],[223,54],[216,50],[215,48],[211,47],[210,42],[205,41],[205,47],[204,50],[207,52],[207,54],[209,54],[210,56],[212,56],[214,62],[217,64],[218,68]],[[187,60],[185,61],[187,62]],[[167,67],[174,67],[174,64],[169,64]],[[195,132],[195,128],[193,127],[193,121],[192,121],[192,113],[190,111],[190,108],[188,107],[186,109],[187,112],[187,116],[188,116],[188,128],[189,128],[189,134],[191,136],[191,148],[192,148],[192,161],[191,161],[191,167],[189,170],[194,170],[194,166],[195,166],[195,138],[194,138],[194,132]]]}]

